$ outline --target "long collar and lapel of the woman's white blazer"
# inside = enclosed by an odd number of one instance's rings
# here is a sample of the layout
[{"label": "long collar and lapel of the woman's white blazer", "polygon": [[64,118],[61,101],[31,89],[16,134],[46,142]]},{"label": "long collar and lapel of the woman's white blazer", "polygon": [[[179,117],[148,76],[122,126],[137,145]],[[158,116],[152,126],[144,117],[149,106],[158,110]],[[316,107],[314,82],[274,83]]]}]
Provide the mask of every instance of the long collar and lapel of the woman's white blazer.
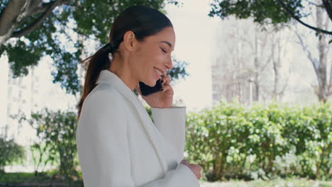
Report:
[{"label": "long collar and lapel of the woman's white blazer", "polygon": [[150,116],[145,111],[143,104],[138,100],[135,93],[131,91],[131,89],[129,89],[128,86],[126,86],[126,84],[124,84],[123,81],[116,74],[106,69],[101,70],[99,78],[96,81],[96,84],[99,83],[111,84],[112,86],[114,86],[115,89],[117,89],[121,94],[123,94],[123,96],[126,96],[126,98],[128,98],[129,101],[133,103],[133,106],[135,106],[136,110],[138,111],[140,120],[143,124],[143,128],[145,129],[145,132],[147,132],[149,140],[152,143],[155,152],[157,153],[160,165],[162,166],[162,171],[164,172],[164,174],[166,174],[167,164],[161,150],[162,142],[161,139],[158,137],[161,136],[161,134],[153,124],[153,121],[150,119]]}]

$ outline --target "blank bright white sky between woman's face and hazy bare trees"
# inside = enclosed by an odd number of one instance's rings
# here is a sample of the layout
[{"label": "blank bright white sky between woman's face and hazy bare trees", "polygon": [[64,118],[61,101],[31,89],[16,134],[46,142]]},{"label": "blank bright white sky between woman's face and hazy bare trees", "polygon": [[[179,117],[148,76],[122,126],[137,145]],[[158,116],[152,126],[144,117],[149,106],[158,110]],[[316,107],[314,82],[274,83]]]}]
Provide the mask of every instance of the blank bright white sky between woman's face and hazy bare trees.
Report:
[{"label": "blank bright white sky between woman's face and hazy bare trees", "polygon": [[214,58],[216,18],[209,18],[209,1],[182,1],[182,7],[167,5],[167,16],[175,29],[173,55],[188,63],[189,76],[173,86],[187,111],[211,106],[211,60]]}]

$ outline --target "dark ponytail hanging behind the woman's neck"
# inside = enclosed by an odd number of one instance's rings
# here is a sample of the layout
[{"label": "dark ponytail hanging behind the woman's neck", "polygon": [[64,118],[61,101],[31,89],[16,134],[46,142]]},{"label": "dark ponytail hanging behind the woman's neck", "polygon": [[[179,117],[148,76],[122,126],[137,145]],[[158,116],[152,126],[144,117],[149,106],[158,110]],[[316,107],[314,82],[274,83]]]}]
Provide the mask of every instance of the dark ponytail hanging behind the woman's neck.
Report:
[{"label": "dark ponytail hanging behind the woman's neck", "polygon": [[109,69],[111,61],[109,60],[109,53],[114,53],[114,47],[110,43],[101,47],[94,55],[87,57],[83,62],[89,60],[87,67],[87,74],[85,75],[84,87],[82,97],[77,104],[78,117],[82,110],[84,99],[96,87],[96,80],[99,77],[101,70]]}]

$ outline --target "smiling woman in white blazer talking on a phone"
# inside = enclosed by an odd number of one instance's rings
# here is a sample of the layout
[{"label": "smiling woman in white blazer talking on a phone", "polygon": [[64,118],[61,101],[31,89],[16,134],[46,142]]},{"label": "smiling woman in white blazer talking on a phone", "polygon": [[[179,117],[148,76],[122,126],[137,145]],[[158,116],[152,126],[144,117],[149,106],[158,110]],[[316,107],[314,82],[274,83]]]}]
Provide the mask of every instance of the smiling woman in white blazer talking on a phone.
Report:
[{"label": "smiling woman in white blazer talking on a phone", "polygon": [[[201,167],[183,159],[185,108],[172,106],[165,71],[175,33],[170,20],[147,6],[132,6],[114,21],[109,43],[92,57],[79,101],[77,150],[85,187],[199,186]],[[111,53],[111,60],[109,59]],[[163,90],[142,96],[139,81]]]}]

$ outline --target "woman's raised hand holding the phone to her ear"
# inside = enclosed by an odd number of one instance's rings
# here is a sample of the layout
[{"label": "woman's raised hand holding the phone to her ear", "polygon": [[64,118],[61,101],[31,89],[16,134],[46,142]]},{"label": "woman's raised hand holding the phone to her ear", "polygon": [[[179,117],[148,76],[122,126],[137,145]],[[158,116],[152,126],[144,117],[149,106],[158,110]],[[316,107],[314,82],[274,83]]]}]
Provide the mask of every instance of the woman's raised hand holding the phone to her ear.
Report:
[{"label": "woman's raised hand holding the phone to her ear", "polygon": [[140,87],[138,85],[136,85],[135,89],[151,108],[171,108],[174,91],[172,89],[172,86],[170,86],[170,80],[170,76],[167,76],[166,73],[162,74],[163,90],[150,94],[148,96],[142,95],[142,92],[140,92]]}]

